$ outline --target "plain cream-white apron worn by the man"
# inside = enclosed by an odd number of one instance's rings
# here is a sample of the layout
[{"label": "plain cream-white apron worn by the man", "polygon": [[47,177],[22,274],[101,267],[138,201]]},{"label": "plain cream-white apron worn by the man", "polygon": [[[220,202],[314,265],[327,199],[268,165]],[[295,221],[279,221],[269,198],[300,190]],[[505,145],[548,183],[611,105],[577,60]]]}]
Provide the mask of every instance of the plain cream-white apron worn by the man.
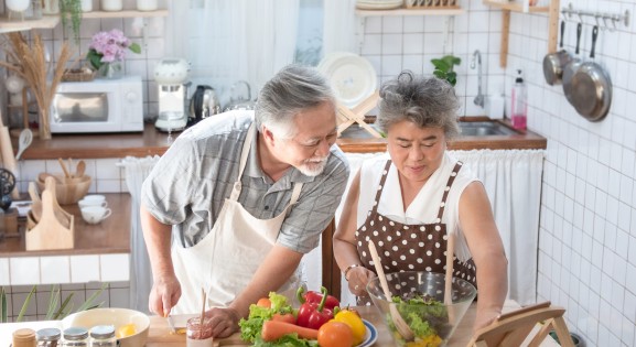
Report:
[{"label": "plain cream-white apron worn by the man", "polygon": [[[201,289],[207,293],[207,307],[227,307],[251,281],[276,243],[288,210],[298,200],[302,183],[294,184],[290,204],[271,219],[255,218],[237,202],[255,131],[252,124],[242,145],[238,181],[212,230],[193,247],[184,248],[173,242],[172,262],[181,283],[181,299],[172,308],[173,314],[201,312]],[[297,269],[278,292],[293,297],[300,280]]]}]

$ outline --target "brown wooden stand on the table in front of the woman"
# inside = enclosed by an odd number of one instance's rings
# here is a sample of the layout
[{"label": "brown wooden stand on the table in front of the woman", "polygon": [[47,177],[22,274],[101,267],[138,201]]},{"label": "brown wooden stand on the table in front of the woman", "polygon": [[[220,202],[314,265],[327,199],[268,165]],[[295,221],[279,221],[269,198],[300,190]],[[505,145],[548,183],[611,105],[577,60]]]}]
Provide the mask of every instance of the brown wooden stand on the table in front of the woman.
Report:
[{"label": "brown wooden stand on the table in front of the woman", "polygon": [[489,326],[475,332],[468,346],[521,346],[521,343],[529,338],[537,324],[542,323],[539,332],[536,333],[528,344],[529,347],[539,346],[551,329],[557,332],[561,346],[574,347],[570,332],[563,319],[564,313],[564,308],[551,306],[550,302],[545,302],[503,314]]}]

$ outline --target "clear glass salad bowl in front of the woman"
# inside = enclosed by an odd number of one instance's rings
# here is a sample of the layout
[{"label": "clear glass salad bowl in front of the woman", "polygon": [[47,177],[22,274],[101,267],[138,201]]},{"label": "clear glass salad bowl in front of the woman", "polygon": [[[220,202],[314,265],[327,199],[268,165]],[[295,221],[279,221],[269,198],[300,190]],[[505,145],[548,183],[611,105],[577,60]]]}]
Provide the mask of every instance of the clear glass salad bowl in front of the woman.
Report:
[{"label": "clear glass salad bowl in front of the woman", "polygon": [[[414,341],[418,344],[414,346],[444,346],[477,295],[477,290],[473,284],[453,278],[453,303],[444,304],[445,278],[441,273],[424,271],[388,273],[387,282],[391,295],[401,299],[401,303],[396,306],[416,336]],[[390,314],[389,307],[395,301],[387,300],[377,276],[369,281],[367,291],[380,311],[396,344],[407,346],[407,341],[396,329]],[[416,294],[432,300],[433,303],[408,304],[405,302]]]}]

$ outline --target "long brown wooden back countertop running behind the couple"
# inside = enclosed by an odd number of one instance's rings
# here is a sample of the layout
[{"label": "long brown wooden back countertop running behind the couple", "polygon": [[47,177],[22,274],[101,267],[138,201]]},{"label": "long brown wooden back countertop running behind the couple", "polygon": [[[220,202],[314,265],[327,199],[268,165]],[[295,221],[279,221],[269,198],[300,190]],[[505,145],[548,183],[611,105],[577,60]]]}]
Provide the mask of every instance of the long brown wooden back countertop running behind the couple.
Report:
[{"label": "long brown wooden back countertop running behind the couple", "polygon": [[[487,118],[471,117],[472,120]],[[464,119],[465,120],[465,119]],[[172,134],[174,138],[179,133]],[[373,153],[386,150],[386,140],[371,138],[339,138],[337,144],[348,153]],[[52,140],[33,139],[33,143],[22,158],[42,160],[57,158],[103,159],[162,155],[169,148],[168,134],[158,131],[154,126],[145,124],[143,132],[108,134],[53,134]],[[450,150],[520,150],[546,149],[546,138],[525,131],[515,135],[462,137],[449,144]],[[13,149],[18,150],[18,139],[13,139]]]}]

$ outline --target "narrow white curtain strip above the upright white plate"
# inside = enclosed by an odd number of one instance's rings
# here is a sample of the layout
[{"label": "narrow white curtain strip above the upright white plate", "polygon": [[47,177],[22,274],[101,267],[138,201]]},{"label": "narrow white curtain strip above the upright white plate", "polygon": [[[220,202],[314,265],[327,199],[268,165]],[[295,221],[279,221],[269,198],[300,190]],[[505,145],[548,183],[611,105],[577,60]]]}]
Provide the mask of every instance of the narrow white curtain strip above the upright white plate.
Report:
[{"label": "narrow white curtain strip above the upright white plate", "polygon": [[[352,52],[356,47],[356,0],[324,0],[323,53]],[[362,33],[359,33],[362,35]]]}]

